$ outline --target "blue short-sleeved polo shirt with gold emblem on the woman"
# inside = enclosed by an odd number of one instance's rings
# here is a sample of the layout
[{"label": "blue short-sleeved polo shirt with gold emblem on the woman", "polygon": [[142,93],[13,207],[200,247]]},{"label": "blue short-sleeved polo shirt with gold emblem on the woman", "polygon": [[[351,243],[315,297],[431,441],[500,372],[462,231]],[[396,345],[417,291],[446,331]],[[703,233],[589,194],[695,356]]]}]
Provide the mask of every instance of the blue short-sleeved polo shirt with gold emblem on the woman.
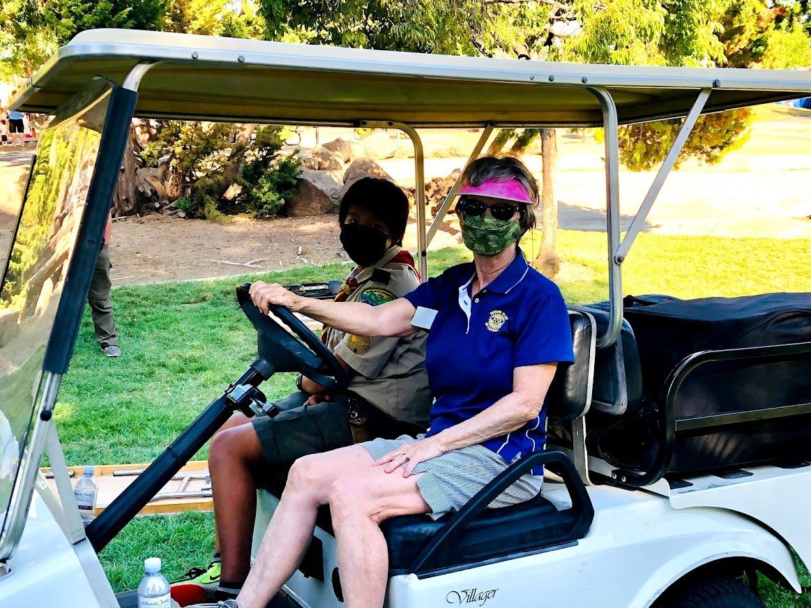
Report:
[{"label": "blue short-sleeved polo shirt with gold emblem on the woman", "polygon": [[[448,268],[405,296],[436,310],[426,343],[431,428],[436,435],[513,392],[516,367],[573,362],[572,331],[560,289],[531,268],[519,250],[496,280],[471,293],[473,263]],[[508,435],[483,443],[508,462],[543,450],[547,407]],[[542,473],[536,469],[534,473]]]}]

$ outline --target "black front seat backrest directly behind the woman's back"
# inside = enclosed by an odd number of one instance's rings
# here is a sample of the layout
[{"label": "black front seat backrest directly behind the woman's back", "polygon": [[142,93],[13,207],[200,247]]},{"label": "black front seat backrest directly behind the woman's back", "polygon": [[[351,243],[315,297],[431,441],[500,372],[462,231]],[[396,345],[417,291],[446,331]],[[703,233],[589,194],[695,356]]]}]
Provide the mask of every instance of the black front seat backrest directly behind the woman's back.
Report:
[{"label": "black front seat backrest directly behind the woman's back", "polygon": [[569,310],[572,326],[574,362],[558,366],[549,387],[548,416],[572,420],[585,414],[591,405],[594,381],[594,347],[597,327],[594,316],[586,310]]}]

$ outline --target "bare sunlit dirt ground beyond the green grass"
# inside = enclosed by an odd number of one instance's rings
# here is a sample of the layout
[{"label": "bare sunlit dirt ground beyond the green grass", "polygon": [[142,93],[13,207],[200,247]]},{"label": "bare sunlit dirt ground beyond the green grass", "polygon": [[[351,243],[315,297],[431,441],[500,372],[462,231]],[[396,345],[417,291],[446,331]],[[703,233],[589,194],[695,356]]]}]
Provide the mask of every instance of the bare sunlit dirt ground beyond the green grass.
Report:
[{"label": "bare sunlit dirt ground beyond the green grass", "polygon": [[[778,106],[758,110],[752,136],[715,166],[685,163],[668,178],[648,216],[654,233],[723,237],[807,238],[811,242],[811,112]],[[321,129],[321,142],[350,136]],[[425,131],[426,179],[444,176],[464,163],[462,151],[478,139],[470,130]],[[301,145],[315,143],[315,131],[303,131]],[[560,161],[556,192],[560,226],[605,229],[603,147],[590,136],[559,132]],[[0,150],[0,251],[5,256],[16,215],[13,186],[28,166],[29,152]],[[540,173],[539,156],[527,155]],[[404,186],[414,184],[414,161],[393,158],[380,165]],[[620,173],[623,228],[642,202],[653,172]],[[439,233],[432,247],[457,242]],[[416,246],[412,223],[405,246]],[[300,250],[299,250],[300,248]],[[300,251],[300,252],[299,252]],[[223,224],[150,215],[114,224],[111,258],[116,284],[229,276],[253,270],[291,268],[305,263],[345,260],[334,215],[253,221],[233,217]],[[0,262],[4,262],[0,259]],[[244,264],[255,262],[254,267]]]}]

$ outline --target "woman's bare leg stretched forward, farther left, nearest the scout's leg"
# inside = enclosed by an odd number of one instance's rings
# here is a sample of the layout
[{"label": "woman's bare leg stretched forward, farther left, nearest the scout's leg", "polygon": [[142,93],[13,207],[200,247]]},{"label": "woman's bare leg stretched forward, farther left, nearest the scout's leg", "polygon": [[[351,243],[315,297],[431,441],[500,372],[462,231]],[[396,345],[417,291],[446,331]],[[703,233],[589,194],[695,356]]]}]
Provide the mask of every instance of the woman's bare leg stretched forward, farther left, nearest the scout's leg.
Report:
[{"label": "woman's bare leg stretched forward, farther left, nearest the scout's leg", "polygon": [[304,456],[294,462],[281,501],[237,597],[240,606],[267,606],[301,563],[315,532],[315,513],[328,502],[333,482],[373,465],[369,453],[357,445]]}]

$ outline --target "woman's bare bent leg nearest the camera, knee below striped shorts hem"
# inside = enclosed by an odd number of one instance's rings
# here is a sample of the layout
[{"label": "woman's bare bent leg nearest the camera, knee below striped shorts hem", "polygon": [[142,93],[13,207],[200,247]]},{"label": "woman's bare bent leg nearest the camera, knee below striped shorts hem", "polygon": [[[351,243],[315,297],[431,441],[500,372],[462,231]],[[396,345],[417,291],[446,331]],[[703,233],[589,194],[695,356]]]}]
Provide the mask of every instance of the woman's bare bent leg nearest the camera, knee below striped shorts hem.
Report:
[{"label": "woman's bare bent leg nearest the camera, knee below striped shorts hem", "polygon": [[384,468],[341,477],[329,493],[338,545],[338,570],[347,608],[381,608],[388,583],[388,547],[380,523],[390,517],[427,513],[418,475]]}]

